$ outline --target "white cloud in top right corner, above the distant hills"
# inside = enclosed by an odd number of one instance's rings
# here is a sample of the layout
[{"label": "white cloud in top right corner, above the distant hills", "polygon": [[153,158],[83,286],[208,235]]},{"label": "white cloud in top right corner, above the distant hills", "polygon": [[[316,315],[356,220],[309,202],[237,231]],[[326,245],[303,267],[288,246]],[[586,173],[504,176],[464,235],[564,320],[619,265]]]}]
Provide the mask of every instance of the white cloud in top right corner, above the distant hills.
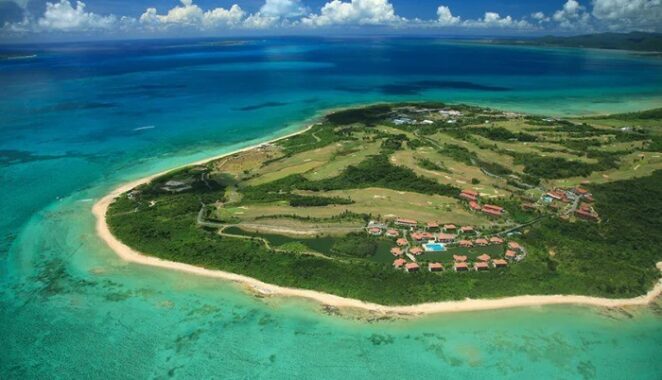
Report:
[{"label": "white cloud in top right corner, above the distant hills", "polygon": [[593,0],[592,14],[612,28],[662,28],[662,0]]}]

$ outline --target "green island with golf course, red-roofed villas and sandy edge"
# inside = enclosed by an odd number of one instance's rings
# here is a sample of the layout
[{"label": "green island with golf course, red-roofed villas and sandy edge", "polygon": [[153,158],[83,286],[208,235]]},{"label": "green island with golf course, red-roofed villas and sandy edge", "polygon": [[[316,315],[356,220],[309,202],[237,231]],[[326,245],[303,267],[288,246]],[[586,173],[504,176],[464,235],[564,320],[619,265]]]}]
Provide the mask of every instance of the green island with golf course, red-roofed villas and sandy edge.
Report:
[{"label": "green island with golf course, red-roofed villas and sandy edge", "polygon": [[660,293],[661,126],[662,109],[335,110],[117,189],[97,230],[133,261],[328,304],[644,304]]}]

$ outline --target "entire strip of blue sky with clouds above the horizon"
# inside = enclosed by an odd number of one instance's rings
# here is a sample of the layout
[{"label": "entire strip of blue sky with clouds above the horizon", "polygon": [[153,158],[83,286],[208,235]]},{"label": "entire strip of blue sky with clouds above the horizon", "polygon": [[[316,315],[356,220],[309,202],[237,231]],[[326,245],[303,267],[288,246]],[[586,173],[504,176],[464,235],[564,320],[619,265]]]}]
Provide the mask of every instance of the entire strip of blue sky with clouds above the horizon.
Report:
[{"label": "entire strip of blue sky with clouds above the horizon", "polygon": [[0,40],[662,31],[662,0],[0,0]]}]

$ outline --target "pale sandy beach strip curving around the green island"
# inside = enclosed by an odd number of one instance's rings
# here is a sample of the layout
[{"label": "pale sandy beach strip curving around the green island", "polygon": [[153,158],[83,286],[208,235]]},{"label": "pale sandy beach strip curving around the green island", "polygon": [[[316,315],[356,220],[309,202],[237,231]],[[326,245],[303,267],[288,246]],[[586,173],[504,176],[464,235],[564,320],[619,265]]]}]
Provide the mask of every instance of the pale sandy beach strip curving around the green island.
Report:
[{"label": "pale sandy beach strip curving around the green island", "polygon": [[[283,137],[278,137],[265,143],[272,143],[274,141],[288,138],[303,133],[310,128],[312,128],[312,125],[298,132],[294,132]],[[249,146],[233,152],[200,160],[198,162],[194,162],[184,166],[204,164],[209,161],[217,160],[219,158],[229,156],[238,152],[254,149],[255,147],[262,144],[264,143],[255,144],[253,146]],[[249,288],[253,289],[254,291],[258,292],[259,294],[263,294],[263,295],[301,297],[319,302],[323,305],[333,306],[337,308],[360,309],[360,310],[376,312],[376,313],[384,313],[384,314],[422,315],[422,314],[494,310],[494,309],[506,309],[506,308],[514,308],[514,307],[542,306],[542,305],[586,305],[586,306],[607,307],[607,308],[623,307],[623,306],[642,306],[649,304],[650,302],[655,300],[656,297],[662,294],[662,280],[660,280],[655,285],[655,287],[651,289],[647,294],[639,297],[627,298],[627,299],[608,299],[608,298],[577,296],[577,295],[545,295],[545,296],[531,295],[531,296],[506,297],[506,298],[498,298],[498,299],[466,299],[462,301],[431,302],[431,303],[408,305],[408,306],[385,306],[375,303],[363,302],[361,300],[352,299],[352,298],[344,298],[333,294],[318,292],[314,290],[282,287],[278,285],[268,284],[259,281],[255,278],[243,276],[235,273],[206,269],[189,264],[162,260],[135,251],[131,247],[119,241],[115,236],[113,236],[106,222],[106,212],[108,211],[108,207],[113,202],[113,200],[119,195],[125,193],[126,191],[131,190],[136,186],[145,184],[151,181],[152,179],[161,176],[171,170],[167,170],[136,181],[126,183],[118,187],[117,189],[113,190],[111,193],[107,194],[103,198],[101,198],[92,207],[92,213],[96,217],[97,234],[123,260],[142,265],[150,265],[169,270],[186,272],[199,276],[213,277],[227,281],[233,281],[236,283],[246,285]],[[658,263],[657,267],[658,269],[662,270],[662,263]]]}]

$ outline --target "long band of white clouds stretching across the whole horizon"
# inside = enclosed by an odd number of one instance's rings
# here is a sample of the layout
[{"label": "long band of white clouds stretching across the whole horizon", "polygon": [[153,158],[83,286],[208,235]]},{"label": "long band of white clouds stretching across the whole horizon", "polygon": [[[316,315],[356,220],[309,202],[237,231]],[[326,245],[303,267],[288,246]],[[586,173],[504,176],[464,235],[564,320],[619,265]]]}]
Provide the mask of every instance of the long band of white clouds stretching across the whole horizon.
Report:
[{"label": "long band of white clouds stretching across the whole horizon", "polygon": [[[138,17],[100,15],[86,10],[83,1],[50,0],[43,15],[33,16],[28,9],[34,7],[31,0],[0,0],[16,10],[12,17],[7,12],[0,15],[0,37],[2,34],[88,32],[107,33],[167,31],[188,29],[209,31],[229,28],[267,29],[285,27],[329,27],[335,25],[378,25],[387,27],[451,27],[463,29],[510,29],[510,30],[572,30],[593,32],[613,30],[662,29],[662,0],[564,0],[563,6],[553,13],[534,12],[527,17],[515,19],[487,11],[483,17],[464,19],[454,15],[446,5],[439,5],[436,18],[406,19],[398,16],[391,0],[326,0],[318,12],[311,12],[305,0],[263,0],[262,6],[253,14],[245,12],[239,5],[229,8],[202,9],[194,0],[179,1],[165,13],[156,8],[147,8]],[[4,19],[1,16],[5,16]],[[1,23],[4,22],[4,25]],[[293,29],[294,30],[294,29]]]}]

